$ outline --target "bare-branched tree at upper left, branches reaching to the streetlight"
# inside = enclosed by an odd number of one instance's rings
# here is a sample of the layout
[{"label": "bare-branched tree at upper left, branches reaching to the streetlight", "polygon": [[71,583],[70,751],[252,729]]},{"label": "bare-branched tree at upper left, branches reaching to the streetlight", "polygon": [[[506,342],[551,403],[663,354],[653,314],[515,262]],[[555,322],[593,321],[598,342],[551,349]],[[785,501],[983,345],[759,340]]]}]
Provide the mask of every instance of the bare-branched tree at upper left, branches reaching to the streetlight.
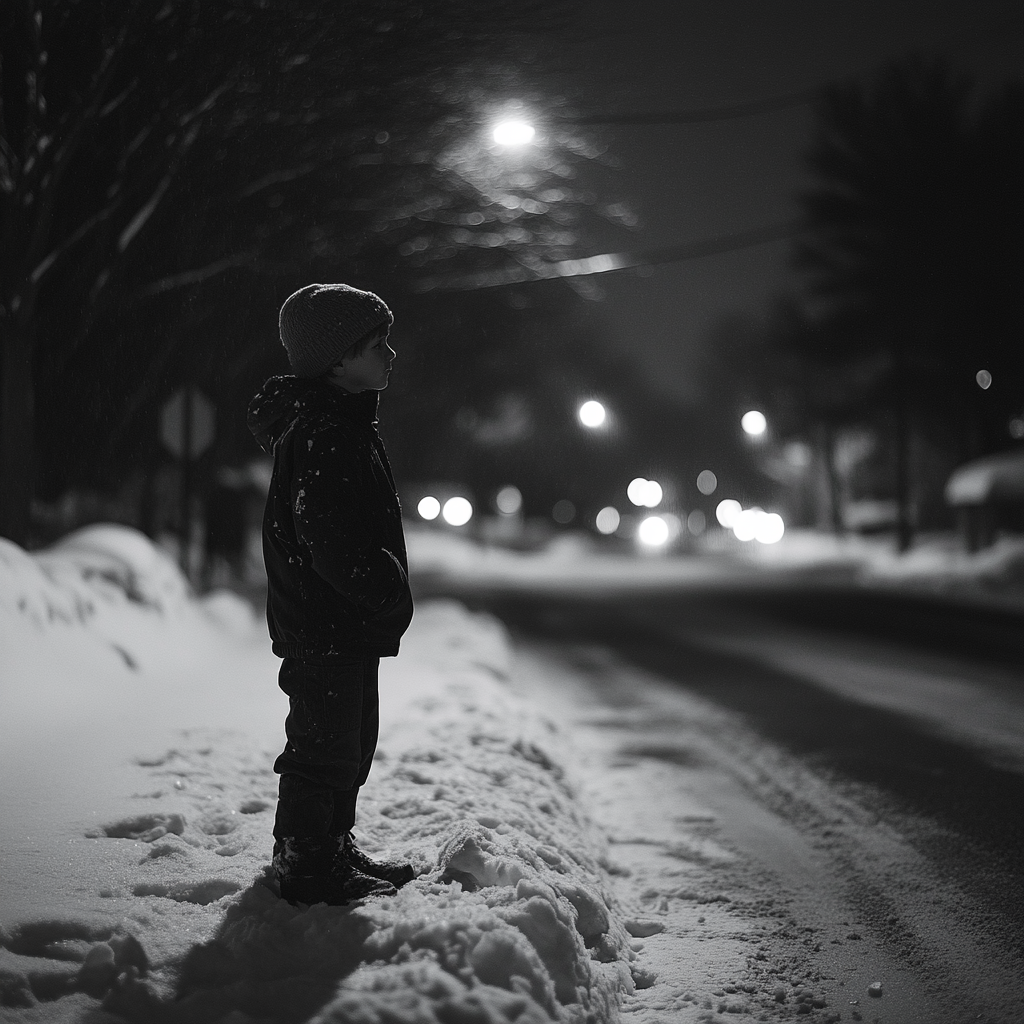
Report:
[{"label": "bare-branched tree at upper left, branches reaching to the streetlight", "polygon": [[[6,4],[0,534],[30,536],[40,375],[117,337],[138,348],[162,297],[232,272],[376,260],[408,279],[424,253],[569,251],[584,198],[566,159],[585,158],[579,145],[498,196],[459,141],[501,113],[517,41],[550,31],[562,6]],[[518,206],[501,201],[512,195]],[[175,344],[134,355],[158,368]]]}]

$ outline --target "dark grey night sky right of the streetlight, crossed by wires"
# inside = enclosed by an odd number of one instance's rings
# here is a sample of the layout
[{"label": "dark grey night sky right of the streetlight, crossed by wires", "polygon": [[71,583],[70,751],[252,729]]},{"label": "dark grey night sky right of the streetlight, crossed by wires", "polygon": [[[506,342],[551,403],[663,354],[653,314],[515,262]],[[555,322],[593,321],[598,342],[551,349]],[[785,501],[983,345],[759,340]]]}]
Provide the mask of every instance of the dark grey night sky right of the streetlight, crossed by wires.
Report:
[{"label": "dark grey night sky right of the streetlight, crossed by wires", "polygon": [[[558,45],[567,90],[595,111],[707,109],[836,78],[870,81],[918,51],[994,85],[1024,70],[1020,0],[588,0]],[[584,87],[581,90],[580,83]],[[701,240],[797,213],[806,105],[697,125],[596,129],[621,161],[616,187],[641,218],[635,248]],[[651,379],[691,393],[691,369],[724,314],[763,312],[792,281],[775,243],[599,279],[608,339]]]}]

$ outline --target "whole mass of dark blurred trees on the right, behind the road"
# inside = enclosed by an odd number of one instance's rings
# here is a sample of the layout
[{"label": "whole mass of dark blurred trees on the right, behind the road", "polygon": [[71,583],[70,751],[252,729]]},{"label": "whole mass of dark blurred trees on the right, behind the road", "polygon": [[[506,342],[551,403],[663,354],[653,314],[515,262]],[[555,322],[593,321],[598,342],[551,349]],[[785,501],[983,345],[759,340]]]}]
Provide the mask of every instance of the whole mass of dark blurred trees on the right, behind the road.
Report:
[{"label": "whole mass of dark blurred trees on the right, behind the road", "polygon": [[984,93],[920,56],[833,85],[807,167],[799,285],[720,341],[776,432],[814,451],[837,528],[857,463],[905,550],[948,515],[955,465],[1024,434],[1024,88]]}]

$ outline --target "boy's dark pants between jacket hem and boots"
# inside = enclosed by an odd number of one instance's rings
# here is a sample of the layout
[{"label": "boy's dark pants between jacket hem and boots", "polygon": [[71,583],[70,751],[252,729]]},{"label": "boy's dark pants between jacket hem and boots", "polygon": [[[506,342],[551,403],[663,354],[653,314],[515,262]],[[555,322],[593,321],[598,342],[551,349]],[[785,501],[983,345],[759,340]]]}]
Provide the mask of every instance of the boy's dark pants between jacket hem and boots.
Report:
[{"label": "boy's dark pants between jacket hem and boots", "polygon": [[288,694],[288,742],[275,839],[341,836],[355,821],[355,800],[377,749],[379,658],[328,662],[287,657],[279,683]]}]

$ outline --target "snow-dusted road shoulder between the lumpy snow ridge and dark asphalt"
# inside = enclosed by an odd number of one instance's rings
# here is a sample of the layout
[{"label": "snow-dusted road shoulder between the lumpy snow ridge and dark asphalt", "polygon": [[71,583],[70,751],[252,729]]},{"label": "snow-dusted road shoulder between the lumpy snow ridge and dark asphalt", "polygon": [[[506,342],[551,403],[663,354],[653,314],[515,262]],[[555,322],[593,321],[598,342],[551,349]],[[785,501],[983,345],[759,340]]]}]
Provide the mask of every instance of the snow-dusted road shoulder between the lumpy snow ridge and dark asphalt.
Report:
[{"label": "snow-dusted road shoulder between the lumpy snow ridge and dark asphalt", "polygon": [[1014,1019],[984,972],[943,990],[950,957],[984,951],[950,932],[955,900],[922,858],[735,714],[596,645],[520,641],[513,684],[579,748],[615,896],[656,976],[628,1019]]}]

